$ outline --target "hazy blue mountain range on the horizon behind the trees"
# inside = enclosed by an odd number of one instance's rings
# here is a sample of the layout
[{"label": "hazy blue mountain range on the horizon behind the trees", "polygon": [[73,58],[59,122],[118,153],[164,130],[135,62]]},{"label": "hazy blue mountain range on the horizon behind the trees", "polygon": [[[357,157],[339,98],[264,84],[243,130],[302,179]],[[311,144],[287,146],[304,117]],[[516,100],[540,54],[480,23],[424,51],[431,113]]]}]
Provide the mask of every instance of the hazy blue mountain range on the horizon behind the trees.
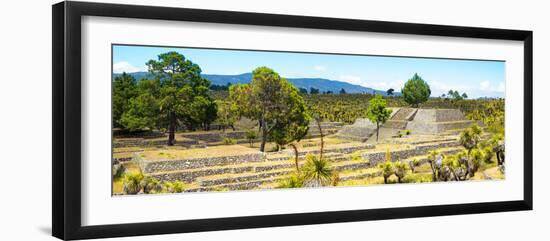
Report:
[{"label": "hazy blue mountain range on the horizon behind the trees", "polygon": [[[152,75],[148,72],[134,72],[129,73],[136,80],[152,78]],[[120,74],[113,74],[118,76]],[[203,78],[210,80],[213,85],[227,85],[230,84],[247,84],[252,80],[252,73],[244,73],[238,75],[217,75],[217,74],[203,74]],[[332,91],[333,93],[339,93],[341,89],[344,89],[346,93],[376,93],[386,95],[385,90],[376,90],[369,87],[360,85],[354,85],[338,80],[329,80],[323,78],[287,78],[297,88],[305,88],[309,91],[310,88],[319,89],[320,92]],[[394,95],[400,95],[397,91]]]}]

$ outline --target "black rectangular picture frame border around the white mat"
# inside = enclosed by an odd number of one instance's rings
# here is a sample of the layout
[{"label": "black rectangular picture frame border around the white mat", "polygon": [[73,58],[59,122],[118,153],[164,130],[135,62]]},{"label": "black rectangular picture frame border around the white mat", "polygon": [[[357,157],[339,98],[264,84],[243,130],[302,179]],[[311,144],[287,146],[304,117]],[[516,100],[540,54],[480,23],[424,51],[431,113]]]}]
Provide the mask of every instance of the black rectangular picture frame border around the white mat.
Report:
[{"label": "black rectangular picture frame border around the white mat", "polygon": [[[60,239],[200,232],[322,223],[532,210],[533,208],[533,32],[430,24],[397,23],[197,10],[90,2],[52,6],[52,233]],[[137,222],[99,226],[81,224],[81,17],[194,21],[427,36],[517,40],[524,43],[524,180],[523,199],[369,210]],[[137,220],[139,221],[139,220]]]}]

